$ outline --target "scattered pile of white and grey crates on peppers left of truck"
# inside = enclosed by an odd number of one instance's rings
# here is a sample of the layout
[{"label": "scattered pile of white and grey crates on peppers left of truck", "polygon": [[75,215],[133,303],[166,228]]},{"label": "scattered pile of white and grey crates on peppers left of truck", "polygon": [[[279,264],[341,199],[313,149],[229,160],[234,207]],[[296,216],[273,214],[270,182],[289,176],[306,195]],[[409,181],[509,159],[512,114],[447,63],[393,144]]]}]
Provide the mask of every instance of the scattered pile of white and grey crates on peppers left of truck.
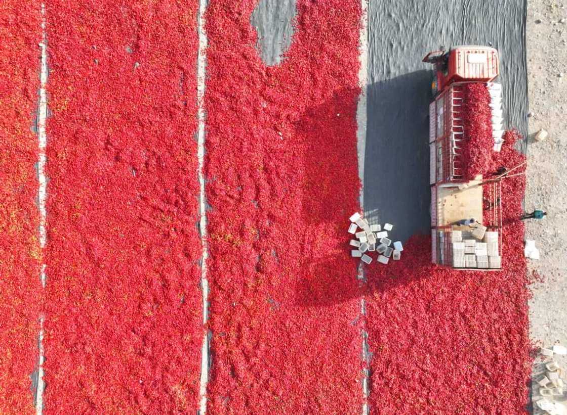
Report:
[{"label": "scattered pile of white and grey crates on peppers left of truck", "polygon": [[[370,225],[366,219],[362,219],[360,213],[354,213],[350,217],[349,233],[353,234],[356,239],[350,239],[350,246],[355,247],[350,254],[356,258],[360,258],[362,262],[370,264],[372,258],[367,253],[377,252],[378,262],[387,264],[390,258],[399,260],[401,251],[404,250],[400,241],[392,244],[392,239],[388,238],[388,232],[393,229],[392,224],[384,224],[384,228],[379,224]],[[362,230],[358,230],[358,229]]]}]

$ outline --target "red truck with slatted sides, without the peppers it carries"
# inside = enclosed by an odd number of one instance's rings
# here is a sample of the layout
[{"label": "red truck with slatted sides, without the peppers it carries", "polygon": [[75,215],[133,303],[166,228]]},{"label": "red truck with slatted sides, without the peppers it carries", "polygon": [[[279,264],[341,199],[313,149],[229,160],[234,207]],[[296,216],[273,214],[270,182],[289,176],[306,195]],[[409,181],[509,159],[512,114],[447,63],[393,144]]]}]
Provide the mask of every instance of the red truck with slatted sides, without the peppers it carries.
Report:
[{"label": "red truck with slatted sides, without the peppers it carries", "polygon": [[[463,269],[500,269],[502,220],[500,181],[467,181],[462,146],[466,114],[460,109],[463,87],[483,83],[491,96],[494,150],[502,143],[501,85],[498,52],[488,46],[457,46],[430,52],[423,59],[434,65],[429,106],[431,185],[431,260]],[[475,228],[459,221],[474,218]]]}]

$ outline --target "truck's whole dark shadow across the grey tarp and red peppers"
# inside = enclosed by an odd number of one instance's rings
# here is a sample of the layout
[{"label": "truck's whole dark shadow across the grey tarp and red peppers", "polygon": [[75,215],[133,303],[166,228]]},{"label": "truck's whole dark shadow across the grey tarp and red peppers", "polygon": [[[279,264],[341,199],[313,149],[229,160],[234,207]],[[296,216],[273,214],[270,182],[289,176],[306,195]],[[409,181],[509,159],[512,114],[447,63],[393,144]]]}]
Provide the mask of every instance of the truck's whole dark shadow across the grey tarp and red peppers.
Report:
[{"label": "truck's whole dark shadow across the grey tarp and red peppers", "polygon": [[[364,162],[364,207],[371,223],[395,225],[392,236],[403,242],[414,234],[429,234],[429,77],[428,71],[412,72],[368,87],[367,135]],[[304,181],[309,189],[303,195],[302,216],[308,224],[303,241],[304,259],[297,276],[295,302],[299,306],[321,307],[351,301],[408,283],[424,272],[411,276],[388,277],[388,283],[377,281],[392,263],[365,265],[365,280],[358,277],[359,259],[350,257],[350,235],[346,233],[348,217],[358,209],[358,178],[341,166],[337,154],[345,148],[336,131],[356,131],[356,122],[349,124],[337,117],[345,101],[356,119],[353,89],[336,92],[331,100],[308,110],[295,123],[295,129],[307,145],[304,152]],[[356,98],[355,98],[356,99]],[[316,135],[315,134],[316,132]],[[325,137],[324,145],[319,142]],[[345,164],[352,163],[356,148],[344,150]],[[323,174],[321,174],[323,172]],[[346,177],[345,177],[346,176]],[[313,178],[323,182],[313,186]],[[345,186],[332,186],[345,183]],[[350,186],[350,187],[349,187]],[[353,199],[355,199],[353,201]],[[340,209],[336,207],[340,206]],[[326,233],[329,240],[344,241],[325,246],[314,234]],[[404,255],[403,255],[404,256]],[[424,256],[424,267],[430,267],[430,254]],[[345,262],[352,264],[345,273]],[[379,267],[379,268],[376,268]],[[382,268],[382,269],[380,269]],[[376,274],[376,275],[375,275]]]}]

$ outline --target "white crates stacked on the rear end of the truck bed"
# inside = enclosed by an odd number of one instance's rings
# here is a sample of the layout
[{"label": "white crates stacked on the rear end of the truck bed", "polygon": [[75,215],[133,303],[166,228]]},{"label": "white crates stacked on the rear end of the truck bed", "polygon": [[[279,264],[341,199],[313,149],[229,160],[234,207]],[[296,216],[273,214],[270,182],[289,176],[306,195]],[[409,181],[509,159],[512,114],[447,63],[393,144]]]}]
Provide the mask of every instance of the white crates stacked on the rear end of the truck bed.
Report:
[{"label": "white crates stacked on the rear end of the truck bed", "polygon": [[454,268],[500,268],[498,232],[485,232],[483,241],[472,238],[471,232],[451,232],[452,266]]}]

